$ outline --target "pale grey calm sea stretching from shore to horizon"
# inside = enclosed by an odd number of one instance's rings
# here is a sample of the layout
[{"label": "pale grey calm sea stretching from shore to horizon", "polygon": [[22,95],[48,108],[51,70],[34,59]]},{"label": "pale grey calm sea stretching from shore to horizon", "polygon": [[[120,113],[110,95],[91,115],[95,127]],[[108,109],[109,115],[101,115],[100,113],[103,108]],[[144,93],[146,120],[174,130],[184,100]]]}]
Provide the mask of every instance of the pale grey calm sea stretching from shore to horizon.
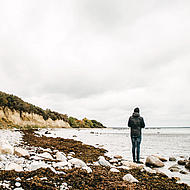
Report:
[{"label": "pale grey calm sea stretching from shore to horizon", "polygon": [[[127,127],[101,128],[101,129],[42,129],[39,133],[51,137],[62,137],[82,141],[97,148],[104,148],[107,156],[121,155],[123,159],[132,161],[130,130]],[[145,162],[147,156],[158,155],[169,160],[175,157],[178,160],[190,159],[190,127],[147,127],[142,130],[141,161]],[[179,172],[170,172],[168,168],[177,164],[167,161],[160,168],[169,177],[179,177],[179,183],[190,185],[190,171],[179,166]]]}]

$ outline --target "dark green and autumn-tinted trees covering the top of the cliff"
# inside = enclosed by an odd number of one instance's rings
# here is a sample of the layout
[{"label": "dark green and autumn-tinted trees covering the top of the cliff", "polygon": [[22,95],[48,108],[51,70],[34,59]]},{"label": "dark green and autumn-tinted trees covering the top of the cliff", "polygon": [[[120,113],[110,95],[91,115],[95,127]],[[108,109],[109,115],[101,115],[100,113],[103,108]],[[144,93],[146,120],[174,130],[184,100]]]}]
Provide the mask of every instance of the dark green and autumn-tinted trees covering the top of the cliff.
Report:
[{"label": "dark green and autumn-tinted trees covering the top of the cliff", "polygon": [[43,110],[42,108],[32,105],[30,103],[24,102],[21,98],[10,95],[0,91],[0,106],[5,111],[5,108],[8,107],[10,110],[19,111],[20,117],[22,117],[23,112],[33,113],[41,115],[44,120],[51,118],[55,120],[63,120],[68,122],[73,128],[102,128],[104,127],[100,122],[96,120],[88,120],[84,118],[83,120],[78,120],[74,117],[68,117],[66,114],[61,114],[50,109]]}]

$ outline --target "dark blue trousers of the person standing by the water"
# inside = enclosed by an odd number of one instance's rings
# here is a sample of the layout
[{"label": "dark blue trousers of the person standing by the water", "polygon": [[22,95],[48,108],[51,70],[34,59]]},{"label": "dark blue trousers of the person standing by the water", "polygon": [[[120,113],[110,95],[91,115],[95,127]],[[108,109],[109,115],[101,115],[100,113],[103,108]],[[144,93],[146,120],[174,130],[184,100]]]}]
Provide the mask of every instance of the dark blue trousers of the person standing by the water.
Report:
[{"label": "dark blue trousers of the person standing by the water", "polygon": [[133,162],[139,162],[140,161],[141,136],[140,137],[131,137],[131,142],[132,142]]}]

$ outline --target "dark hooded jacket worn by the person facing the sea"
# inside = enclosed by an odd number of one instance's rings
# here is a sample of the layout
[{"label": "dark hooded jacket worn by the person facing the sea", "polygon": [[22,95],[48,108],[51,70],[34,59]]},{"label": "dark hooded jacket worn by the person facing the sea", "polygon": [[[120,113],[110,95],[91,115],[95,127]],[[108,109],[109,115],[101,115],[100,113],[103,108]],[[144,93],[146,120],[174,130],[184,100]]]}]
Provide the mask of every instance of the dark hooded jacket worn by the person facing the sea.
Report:
[{"label": "dark hooded jacket worn by the person facing the sea", "polygon": [[139,113],[134,112],[129,118],[128,127],[131,128],[131,137],[140,137],[141,129],[145,127],[144,119]]}]

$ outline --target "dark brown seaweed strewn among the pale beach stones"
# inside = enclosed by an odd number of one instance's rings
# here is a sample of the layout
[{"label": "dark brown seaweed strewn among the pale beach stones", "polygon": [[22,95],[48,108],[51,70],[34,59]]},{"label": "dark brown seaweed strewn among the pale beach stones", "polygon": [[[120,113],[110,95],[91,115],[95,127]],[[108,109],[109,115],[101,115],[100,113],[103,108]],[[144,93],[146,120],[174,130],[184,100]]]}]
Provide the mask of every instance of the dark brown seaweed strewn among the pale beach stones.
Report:
[{"label": "dark brown seaweed strewn among the pale beach stones", "polygon": [[[188,185],[178,184],[175,178],[168,178],[162,173],[149,173],[142,171],[142,168],[119,168],[122,166],[121,158],[115,164],[119,172],[111,172],[109,166],[97,164],[99,156],[104,156],[106,161],[111,163],[111,158],[105,156],[107,151],[103,148],[95,148],[73,139],[40,136],[34,133],[34,130],[24,130],[22,133],[22,142],[19,146],[22,145],[22,148],[31,149],[33,152],[36,151],[25,159],[33,162],[31,156],[35,157],[37,154],[48,152],[53,157],[59,151],[64,152],[68,162],[73,158],[82,160],[92,172],[73,166],[54,168],[55,171],[48,167],[20,172],[1,170],[1,183],[3,180],[10,180],[11,187],[16,188],[16,184],[20,183],[20,187],[23,189],[61,189],[61,187],[62,189],[163,189],[163,187],[165,189],[190,189]],[[46,158],[43,161],[49,165],[52,162],[59,163],[55,159]],[[124,181],[123,177],[126,174],[133,175],[139,182]],[[66,185],[63,187],[63,184]],[[2,187],[4,186],[1,185]]]}]

